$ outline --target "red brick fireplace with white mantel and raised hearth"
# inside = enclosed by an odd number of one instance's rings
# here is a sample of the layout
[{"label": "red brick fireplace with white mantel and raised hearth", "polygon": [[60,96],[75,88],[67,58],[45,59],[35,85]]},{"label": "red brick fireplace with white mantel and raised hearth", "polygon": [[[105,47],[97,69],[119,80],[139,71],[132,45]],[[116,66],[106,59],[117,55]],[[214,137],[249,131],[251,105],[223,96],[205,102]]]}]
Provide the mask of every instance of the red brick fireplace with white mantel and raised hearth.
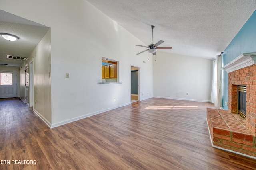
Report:
[{"label": "red brick fireplace with white mantel and raised hearth", "polygon": [[[256,158],[256,53],[222,67],[228,72],[228,111],[207,109],[212,146]],[[238,115],[238,86],[246,86],[246,119]]]}]

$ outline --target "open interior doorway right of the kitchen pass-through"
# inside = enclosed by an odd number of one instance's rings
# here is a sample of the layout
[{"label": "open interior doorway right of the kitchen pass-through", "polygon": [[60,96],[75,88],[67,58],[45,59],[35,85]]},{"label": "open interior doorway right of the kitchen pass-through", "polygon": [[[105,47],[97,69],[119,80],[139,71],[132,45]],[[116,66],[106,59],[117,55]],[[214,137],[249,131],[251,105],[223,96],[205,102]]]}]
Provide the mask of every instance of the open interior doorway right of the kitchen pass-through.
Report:
[{"label": "open interior doorway right of the kitchen pass-through", "polygon": [[140,100],[140,68],[131,65],[131,103]]}]

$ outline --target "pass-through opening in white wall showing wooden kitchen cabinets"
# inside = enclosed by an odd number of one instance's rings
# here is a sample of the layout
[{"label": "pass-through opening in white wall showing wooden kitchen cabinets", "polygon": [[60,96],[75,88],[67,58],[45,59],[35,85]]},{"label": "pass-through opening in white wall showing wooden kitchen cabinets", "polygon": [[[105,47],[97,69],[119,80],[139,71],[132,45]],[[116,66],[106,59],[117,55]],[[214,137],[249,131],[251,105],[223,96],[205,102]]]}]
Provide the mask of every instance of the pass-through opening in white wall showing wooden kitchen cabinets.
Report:
[{"label": "pass-through opening in white wall showing wooden kitchen cabinets", "polygon": [[113,83],[118,82],[118,61],[102,57],[102,82]]}]

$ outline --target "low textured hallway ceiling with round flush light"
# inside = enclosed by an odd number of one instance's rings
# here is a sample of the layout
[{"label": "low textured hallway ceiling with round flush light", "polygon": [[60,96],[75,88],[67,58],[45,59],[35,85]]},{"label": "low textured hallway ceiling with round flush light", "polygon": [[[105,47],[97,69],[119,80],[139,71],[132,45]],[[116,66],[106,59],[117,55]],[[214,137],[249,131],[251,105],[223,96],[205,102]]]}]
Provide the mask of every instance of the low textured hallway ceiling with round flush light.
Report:
[{"label": "low textured hallway ceiling with round flush light", "polygon": [[20,66],[24,61],[7,59],[6,55],[28,57],[49,29],[44,25],[0,10],[0,33],[19,37],[16,41],[7,41],[0,36],[0,64]]}]

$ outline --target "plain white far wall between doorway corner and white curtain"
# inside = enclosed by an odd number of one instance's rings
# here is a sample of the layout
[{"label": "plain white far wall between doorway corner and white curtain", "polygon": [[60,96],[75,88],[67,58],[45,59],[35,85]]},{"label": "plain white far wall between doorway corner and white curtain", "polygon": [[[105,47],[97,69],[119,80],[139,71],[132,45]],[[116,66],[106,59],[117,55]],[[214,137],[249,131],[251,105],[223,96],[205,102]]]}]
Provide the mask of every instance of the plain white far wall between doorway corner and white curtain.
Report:
[{"label": "plain white far wall between doorway corner and white curtain", "polygon": [[157,51],[154,97],[210,102],[211,89],[212,60]]}]

